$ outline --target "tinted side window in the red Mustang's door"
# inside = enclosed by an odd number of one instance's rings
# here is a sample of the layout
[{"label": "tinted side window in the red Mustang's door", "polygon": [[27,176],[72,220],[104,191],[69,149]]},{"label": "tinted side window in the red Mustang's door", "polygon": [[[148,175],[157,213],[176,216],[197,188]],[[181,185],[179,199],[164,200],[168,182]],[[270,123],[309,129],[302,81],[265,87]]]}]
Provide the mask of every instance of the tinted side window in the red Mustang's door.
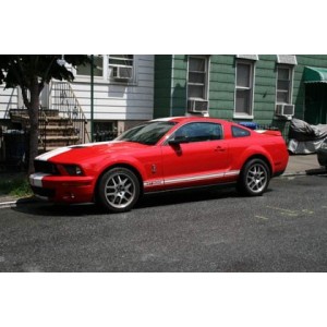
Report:
[{"label": "tinted side window in the red Mustang's door", "polygon": [[181,142],[204,142],[222,138],[220,124],[208,122],[189,123],[178,129],[172,135],[172,140]]}]

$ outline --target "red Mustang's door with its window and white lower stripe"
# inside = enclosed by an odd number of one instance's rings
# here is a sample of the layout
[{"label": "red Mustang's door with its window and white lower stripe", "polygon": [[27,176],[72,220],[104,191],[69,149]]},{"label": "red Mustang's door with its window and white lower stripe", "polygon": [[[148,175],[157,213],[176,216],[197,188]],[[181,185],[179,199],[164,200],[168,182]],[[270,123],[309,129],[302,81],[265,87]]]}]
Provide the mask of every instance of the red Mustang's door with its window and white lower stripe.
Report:
[{"label": "red Mustang's door with its window and white lower stripe", "polygon": [[205,185],[222,180],[230,165],[228,153],[221,124],[191,122],[182,125],[162,145],[165,186]]}]

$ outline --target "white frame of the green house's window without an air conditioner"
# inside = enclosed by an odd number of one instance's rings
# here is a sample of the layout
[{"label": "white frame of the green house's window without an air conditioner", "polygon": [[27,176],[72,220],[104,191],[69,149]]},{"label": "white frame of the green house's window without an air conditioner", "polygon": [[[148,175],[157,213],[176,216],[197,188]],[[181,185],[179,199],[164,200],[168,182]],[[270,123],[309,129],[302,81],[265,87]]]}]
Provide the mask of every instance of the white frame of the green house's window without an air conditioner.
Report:
[{"label": "white frame of the green house's window without an air conditioner", "polygon": [[[247,64],[250,65],[250,87],[238,86],[238,64]],[[254,85],[255,85],[255,62],[252,60],[237,60],[235,61],[235,90],[234,90],[234,114],[235,119],[253,119],[253,105],[254,105]],[[250,89],[250,108],[249,112],[237,112],[237,99],[239,89]]]}]

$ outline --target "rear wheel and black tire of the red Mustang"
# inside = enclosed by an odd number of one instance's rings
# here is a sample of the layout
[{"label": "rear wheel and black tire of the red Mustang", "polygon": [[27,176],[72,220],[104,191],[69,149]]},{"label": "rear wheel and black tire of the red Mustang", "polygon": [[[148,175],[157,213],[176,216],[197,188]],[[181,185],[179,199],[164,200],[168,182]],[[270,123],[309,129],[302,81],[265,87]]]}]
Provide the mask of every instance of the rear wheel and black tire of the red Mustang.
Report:
[{"label": "rear wheel and black tire of the red Mustang", "polygon": [[262,159],[251,159],[242,168],[238,190],[247,196],[263,195],[270,181],[270,171]]}]

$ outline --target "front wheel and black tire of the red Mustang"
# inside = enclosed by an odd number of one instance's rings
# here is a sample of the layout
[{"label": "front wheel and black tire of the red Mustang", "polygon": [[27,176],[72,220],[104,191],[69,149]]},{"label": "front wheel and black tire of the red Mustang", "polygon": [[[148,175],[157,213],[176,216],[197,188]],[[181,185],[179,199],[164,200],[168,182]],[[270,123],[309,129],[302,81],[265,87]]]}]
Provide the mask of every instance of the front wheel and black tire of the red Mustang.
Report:
[{"label": "front wheel and black tire of the red Mustang", "polygon": [[98,183],[97,198],[109,211],[129,211],[136,204],[138,197],[140,182],[130,169],[122,167],[110,169]]}]

